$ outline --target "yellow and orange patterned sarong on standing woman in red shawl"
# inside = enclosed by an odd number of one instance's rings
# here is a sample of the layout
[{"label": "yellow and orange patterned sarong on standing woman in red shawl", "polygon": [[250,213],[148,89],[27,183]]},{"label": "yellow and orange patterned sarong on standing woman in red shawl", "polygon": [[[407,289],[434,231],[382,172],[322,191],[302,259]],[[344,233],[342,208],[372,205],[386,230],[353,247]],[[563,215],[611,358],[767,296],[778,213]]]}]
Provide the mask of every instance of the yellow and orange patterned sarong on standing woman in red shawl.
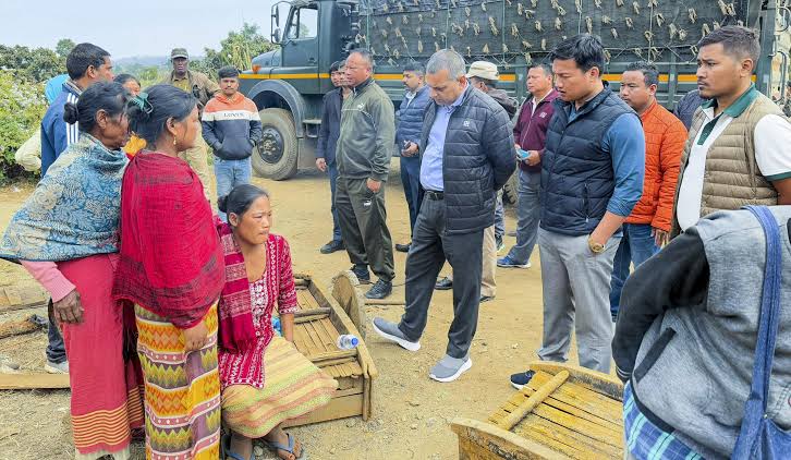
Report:
[{"label": "yellow and orange patterned sarong on standing woman in red shawl", "polygon": [[217,460],[220,457],[220,378],[217,305],[204,316],[205,348],[184,353],[184,335],[167,319],[135,305],[137,351],[145,378],[146,459]]}]

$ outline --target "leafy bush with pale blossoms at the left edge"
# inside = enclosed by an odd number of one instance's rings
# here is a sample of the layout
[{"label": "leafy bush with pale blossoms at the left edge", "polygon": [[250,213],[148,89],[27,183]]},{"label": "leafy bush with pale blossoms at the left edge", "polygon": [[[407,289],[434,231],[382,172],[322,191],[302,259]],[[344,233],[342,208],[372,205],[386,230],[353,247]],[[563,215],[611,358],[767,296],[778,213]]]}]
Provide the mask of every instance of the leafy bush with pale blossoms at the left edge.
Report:
[{"label": "leafy bush with pale blossoms at the left edge", "polygon": [[36,133],[46,111],[42,84],[21,82],[0,70],[0,181],[24,173],[14,154]]}]

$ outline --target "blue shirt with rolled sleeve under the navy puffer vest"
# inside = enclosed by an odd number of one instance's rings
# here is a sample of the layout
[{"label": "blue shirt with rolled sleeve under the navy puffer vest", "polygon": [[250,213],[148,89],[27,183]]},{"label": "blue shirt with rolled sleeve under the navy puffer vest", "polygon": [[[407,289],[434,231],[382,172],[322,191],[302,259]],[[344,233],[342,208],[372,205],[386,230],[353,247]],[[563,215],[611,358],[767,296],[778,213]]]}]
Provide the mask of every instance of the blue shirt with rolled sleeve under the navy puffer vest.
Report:
[{"label": "blue shirt with rolled sleeve under the navy puffer vest", "polygon": [[[574,120],[576,114],[572,104],[569,121]],[[601,148],[612,158],[612,171],[616,177],[616,190],[607,203],[607,210],[621,217],[629,217],[634,205],[643,196],[644,136],[640,118],[634,113],[624,113],[612,122],[601,142]]]}]

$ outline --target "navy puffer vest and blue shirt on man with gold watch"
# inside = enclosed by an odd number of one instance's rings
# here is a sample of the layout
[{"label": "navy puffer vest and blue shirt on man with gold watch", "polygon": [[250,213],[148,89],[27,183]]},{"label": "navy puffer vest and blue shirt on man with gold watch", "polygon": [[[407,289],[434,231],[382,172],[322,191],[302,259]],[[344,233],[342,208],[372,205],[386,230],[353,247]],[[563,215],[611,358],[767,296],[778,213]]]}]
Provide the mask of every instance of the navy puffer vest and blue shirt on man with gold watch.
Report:
[{"label": "navy puffer vest and blue shirt on man with gold watch", "polygon": [[589,234],[606,211],[626,217],[643,195],[645,136],[640,118],[605,88],[579,110],[555,100],[541,155],[543,229]]}]

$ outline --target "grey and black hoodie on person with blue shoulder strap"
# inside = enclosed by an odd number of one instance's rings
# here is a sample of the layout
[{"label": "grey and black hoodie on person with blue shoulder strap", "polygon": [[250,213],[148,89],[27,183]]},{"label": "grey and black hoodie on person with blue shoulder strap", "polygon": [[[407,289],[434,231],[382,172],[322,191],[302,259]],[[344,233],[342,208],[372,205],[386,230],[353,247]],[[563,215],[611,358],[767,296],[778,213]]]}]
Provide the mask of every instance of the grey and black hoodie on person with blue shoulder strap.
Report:
[{"label": "grey and black hoodie on person with blue shoulder strap", "polygon": [[[791,428],[791,206],[770,207],[783,279],[768,416]],[[623,288],[612,354],[641,412],[707,459],[733,450],[750,392],[766,243],[749,210],[711,214]]]}]

